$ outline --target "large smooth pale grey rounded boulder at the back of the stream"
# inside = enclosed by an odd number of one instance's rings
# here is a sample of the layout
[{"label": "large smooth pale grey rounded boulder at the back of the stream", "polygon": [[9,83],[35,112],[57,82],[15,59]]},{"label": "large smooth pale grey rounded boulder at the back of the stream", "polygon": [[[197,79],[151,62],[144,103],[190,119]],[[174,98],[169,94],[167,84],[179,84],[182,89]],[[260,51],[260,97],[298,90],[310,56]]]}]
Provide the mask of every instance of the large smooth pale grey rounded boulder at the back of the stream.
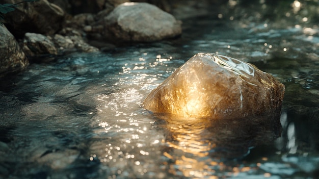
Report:
[{"label": "large smooth pale grey rounded boulder at the back of the stream", "polygon": [[92,29],[112,41],[156,41],[181,34],[181,22],[147,3],[124,3],[97,21]]}]

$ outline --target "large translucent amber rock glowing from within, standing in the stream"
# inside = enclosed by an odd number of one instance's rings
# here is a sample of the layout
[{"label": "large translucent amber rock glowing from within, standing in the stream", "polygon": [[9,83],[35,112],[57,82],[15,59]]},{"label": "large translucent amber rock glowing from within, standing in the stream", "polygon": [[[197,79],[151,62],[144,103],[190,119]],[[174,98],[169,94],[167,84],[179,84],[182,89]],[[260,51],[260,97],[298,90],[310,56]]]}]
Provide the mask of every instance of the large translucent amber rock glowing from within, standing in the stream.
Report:
[{"label": "large translucent amber rock glowing from within, standing in the stream", "polygon": [[284,85],[254,65],[217,54],[197,54],[144,100],[153,113],[181,117],[279,119]]}]

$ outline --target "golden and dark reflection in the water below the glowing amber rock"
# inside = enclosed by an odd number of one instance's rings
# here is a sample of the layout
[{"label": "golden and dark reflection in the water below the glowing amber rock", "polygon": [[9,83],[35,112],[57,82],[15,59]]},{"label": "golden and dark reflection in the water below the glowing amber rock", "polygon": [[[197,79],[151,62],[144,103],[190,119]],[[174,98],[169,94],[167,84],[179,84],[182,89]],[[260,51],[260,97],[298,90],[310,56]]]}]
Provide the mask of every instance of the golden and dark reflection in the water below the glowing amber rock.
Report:
[{"label": "golden and dark reflection in the water below the glowing amber rock", "polygon": [[[244,158],[258,144],[267,145],[281,134],[281,125],[255,118],[211,120],[154,115],[165,121],[167,130],[163,155],[170,159],[169,172],[185,177],[218,178],[227,171],[235,176],[251,167],[231,166],[230,161]],[[225,175],[225,173],[224,173]]]}]

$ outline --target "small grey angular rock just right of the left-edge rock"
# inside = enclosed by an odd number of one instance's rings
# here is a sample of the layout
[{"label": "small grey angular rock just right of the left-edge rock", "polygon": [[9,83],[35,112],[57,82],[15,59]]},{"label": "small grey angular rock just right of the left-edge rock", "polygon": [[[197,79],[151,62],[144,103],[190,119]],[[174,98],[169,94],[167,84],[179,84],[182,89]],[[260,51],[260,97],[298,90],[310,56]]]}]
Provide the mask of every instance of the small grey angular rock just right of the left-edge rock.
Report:
[{"label": "small grey angular rock just right of the left-edge rock", "polygon": [[58,55],[55,44],[46,36],[36,33],[25,33],[23,52],[26,56]]}]

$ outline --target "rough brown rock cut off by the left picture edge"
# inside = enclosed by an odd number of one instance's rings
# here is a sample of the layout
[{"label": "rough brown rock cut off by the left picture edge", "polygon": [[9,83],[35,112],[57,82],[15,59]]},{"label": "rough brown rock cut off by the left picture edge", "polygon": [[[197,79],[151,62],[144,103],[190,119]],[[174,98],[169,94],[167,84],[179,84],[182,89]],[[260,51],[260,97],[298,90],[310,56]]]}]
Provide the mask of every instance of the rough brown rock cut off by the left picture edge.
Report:
[{"label": "rough brown rock cut off by the left picture edge", "polygon": [[24,70],[29,65],[24,53],[5,25],[0,25],[0,78]]}]

